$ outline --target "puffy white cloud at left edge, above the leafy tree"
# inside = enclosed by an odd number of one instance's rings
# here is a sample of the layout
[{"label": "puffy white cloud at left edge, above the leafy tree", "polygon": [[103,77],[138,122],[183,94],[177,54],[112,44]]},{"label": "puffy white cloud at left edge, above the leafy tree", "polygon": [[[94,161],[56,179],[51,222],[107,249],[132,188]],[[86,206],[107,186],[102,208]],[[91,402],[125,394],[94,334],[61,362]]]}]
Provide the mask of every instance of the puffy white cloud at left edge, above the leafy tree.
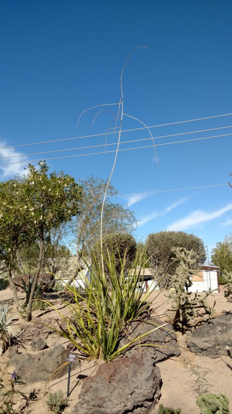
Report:
[{"label": "puffy white cloud at left edge, above the leafy tree", "polygon": [[[23,154],[21,152],[15,151],[14,148],[4,148],[5,145],[5,142],[0,142],[0,157],[4,157],[0,159],[0,164],[16,163],[18,161],[27,159],[26,156],[22,157]],[[0,165],[0,175],[2,178],[14,177],[16,174],[24,173],[24,167],[25,164]]]}]

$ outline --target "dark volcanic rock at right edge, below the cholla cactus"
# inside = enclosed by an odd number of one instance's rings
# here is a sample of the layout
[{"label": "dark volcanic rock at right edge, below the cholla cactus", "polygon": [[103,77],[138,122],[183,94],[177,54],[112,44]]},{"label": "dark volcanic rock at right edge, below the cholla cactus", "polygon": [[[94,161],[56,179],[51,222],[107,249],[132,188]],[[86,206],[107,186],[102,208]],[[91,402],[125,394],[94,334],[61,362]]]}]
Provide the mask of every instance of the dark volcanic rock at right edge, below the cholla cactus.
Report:
[{"label": "dark volcanic rock at right edge, below the cholla cactus", "polygon": [[232,351],[232,314],[220,315],[204,322],[188,334],[187,346],[190,351],[218,358]]}]

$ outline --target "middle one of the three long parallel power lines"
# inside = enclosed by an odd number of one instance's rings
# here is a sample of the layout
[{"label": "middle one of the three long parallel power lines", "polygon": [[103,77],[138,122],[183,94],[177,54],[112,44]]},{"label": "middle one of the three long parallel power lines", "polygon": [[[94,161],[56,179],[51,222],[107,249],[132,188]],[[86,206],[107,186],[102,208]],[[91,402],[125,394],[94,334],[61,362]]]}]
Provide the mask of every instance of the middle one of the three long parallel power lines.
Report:
[{"label": "middle one of the three long parallel power lines", "polygon": [[[180,135],[188,135],[188,134],[193,134],[193,133],[197,133],[197,132],[208,132],[208,131],[216,131],[216,130],[221,130],[221,129],[226,129],[226,128],[232,128],[232,126],[228,126],[228,127],[219,127],[219,128],[211,128],[208,130],[201,130],[201,131],[192,131],[192,132],[182,132],[182,133],[175,133],[175,134],[171,134],[171,135],[161,135],[161,136],[156,136],[156,137],[152,137],[152,138],[140,138],[140,139],[134,139],[134,140],[130,140],[130,141],[121,141],[121,144],[130,144],[132,142],[142,142],[142,141],[150,141],[150,140],[154,140],[154,139],[159,139],[159,138],[168,138],[168,137],[172,137],[172,136],[180,136]],[[203,138],[196,138],[197,139],[208,139],[208,138],[217,138],[220,136],[227,136],[227,135],[231,135],[231,134],[224,134],[224,135],[213,135],[213,136],[209,136],[209,137],[203,137]],[[180,143],[180,142],[188,142],[191,140],[183,140],[183,141],[177,141],[177,142],[170,142],[167,144],[176,144],[176,143]],[[193,139],[194,141],[194,139]],[[32,152],[29,154],[19,154],[19,155],[8,155],[8,156],[4,156],[4,157],[0,157],[0,159],[3,158],[18,158],[18,157],[26,157],[29,155],[41,155],[41,154],[50,154],[50,153],[54,153],[54,152],[65,152],[65,151],[75,151],[75,150],[79,150],[79,149],[90,149],[90,148],[99,148],[99,147],[108,147],[108,146],[112,146],[112,145],[116,145],[116,142],[113,143],[109,143],[109,144],[100,144],[100,145],[91,145],[91,146],[87,146],[87,147],[79,147],[79,148],[68,148],[68,149],[53,149],[51,151],[43,151],[43,152]],[[166,145],[166,144],[156,144],[156,146],[160,146],[160,145]],[[140,148],[144,148],[144,147],[140,147]],[[105,151],[104,151],[105,152]]]}]

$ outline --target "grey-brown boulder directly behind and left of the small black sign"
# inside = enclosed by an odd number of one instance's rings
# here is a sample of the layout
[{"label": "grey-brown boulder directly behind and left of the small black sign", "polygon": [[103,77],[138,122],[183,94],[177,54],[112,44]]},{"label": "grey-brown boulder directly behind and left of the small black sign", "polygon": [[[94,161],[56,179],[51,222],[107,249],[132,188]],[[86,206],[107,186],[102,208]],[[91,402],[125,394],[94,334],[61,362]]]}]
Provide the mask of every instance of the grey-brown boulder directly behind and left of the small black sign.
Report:
[{"label": "grey-brown boulder directly behind and left of the small black sign", "polygon": [[[29,352],[19,354],[17,353],[17,347],[10,348],[8,353],[16,374],[25,383],[48,381],[58,367],[67,362],[67,355],[68,352],[62,345],[57,345],[50,350],[40,351],[36,355],[32,355]],[[80,366],[79,361],[72,364],[75,367]],[[68,364],[58,369],[53,378],[60,378],[67,372]]]}]

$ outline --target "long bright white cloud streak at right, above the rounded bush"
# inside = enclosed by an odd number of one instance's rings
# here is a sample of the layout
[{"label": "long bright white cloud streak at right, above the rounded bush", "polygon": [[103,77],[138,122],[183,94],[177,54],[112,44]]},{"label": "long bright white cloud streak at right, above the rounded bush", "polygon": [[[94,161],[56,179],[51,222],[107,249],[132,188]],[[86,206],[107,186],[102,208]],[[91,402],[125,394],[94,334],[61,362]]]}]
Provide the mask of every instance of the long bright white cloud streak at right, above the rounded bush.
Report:
[{"label": "long bright white cloud streak at right, above the rounded bush", "polygon": [[193,227],[198,226],[199,224],[213,220],[217,217],[220,217],[227,211],[232,210],[232,203],[227,204],[225,207],[222,207],[220,210],[211,212],[211,213],[204,213],[201,210],[196,210],[186,217],[177,220],[175,223],[168,226],[167,230],[174,230],[174,231],[180,231],[180,230],[188,230]]}]

